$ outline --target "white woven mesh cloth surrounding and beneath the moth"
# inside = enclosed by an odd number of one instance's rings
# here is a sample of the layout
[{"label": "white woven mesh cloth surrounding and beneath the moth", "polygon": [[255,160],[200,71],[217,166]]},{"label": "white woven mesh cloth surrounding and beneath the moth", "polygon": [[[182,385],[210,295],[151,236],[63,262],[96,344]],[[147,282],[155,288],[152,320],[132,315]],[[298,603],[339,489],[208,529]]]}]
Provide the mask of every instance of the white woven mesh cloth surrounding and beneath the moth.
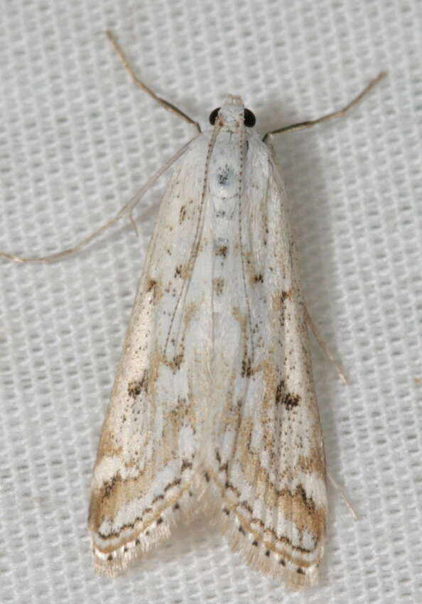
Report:
[{"label": "white woven mesh cloth surrounding and beneath the moth", "polygon": [[320,584],[250,571],[209,524],[115,581],[86,527],[99,429],[164,179],[129,221],[55,264],[1,261],[0,600],[6,603],[421,602],[421,26],[418,0],[1,0],[0,249],[48,254],[112,217],[227,92],[275,141],[308,307],[350,379],[313,344],[330,473]]}]

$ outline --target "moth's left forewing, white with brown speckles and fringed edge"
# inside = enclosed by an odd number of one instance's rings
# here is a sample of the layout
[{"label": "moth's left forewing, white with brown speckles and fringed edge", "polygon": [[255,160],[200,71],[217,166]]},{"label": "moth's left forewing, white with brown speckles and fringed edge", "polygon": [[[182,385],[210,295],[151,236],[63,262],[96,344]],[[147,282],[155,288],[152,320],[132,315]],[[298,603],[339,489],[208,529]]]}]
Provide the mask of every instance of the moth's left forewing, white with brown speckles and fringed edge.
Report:
[{"label": "moth's left forewing, white with brown speckles and fringed edge", "polygon": [[176,510],[189,505],[207,386],[207,350],[198,346],[209,329],[198,313],[210,281],[207,144],[205,135],[193,142],[166,188],[102,427],[89,525],[94,564],[109,574],[168,535]]}]

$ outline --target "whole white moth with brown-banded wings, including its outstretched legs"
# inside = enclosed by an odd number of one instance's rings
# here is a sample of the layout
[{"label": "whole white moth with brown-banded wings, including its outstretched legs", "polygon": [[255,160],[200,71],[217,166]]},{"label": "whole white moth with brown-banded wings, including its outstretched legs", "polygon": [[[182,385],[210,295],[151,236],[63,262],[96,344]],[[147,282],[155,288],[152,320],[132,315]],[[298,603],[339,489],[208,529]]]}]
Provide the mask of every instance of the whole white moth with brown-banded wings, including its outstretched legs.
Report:
[{"label": "whole white moth with brown-banded wings, including its outstretched legs", "polygon": [[[137,80],[108,36],[136,84],[200,131]],[[177,159],[94,465],[88,522],[100,573],[116,576],[203,509],[252,568],[293,589],[317,580],[323,433],[286,191],[266,141],[344,114],[384,75],[340,112],[264,139],[228,95],[213,129]]]}]

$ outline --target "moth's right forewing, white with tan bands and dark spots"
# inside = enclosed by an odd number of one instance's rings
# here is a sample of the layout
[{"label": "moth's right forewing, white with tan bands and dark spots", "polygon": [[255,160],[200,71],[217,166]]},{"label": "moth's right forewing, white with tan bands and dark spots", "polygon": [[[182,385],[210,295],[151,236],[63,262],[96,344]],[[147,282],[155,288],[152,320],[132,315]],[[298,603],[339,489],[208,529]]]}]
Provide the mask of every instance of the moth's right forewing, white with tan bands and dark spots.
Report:
[{"label": "moth's right forewing, white with tan bands and dark spots", "polygon": [[[286,195],[271,154],[251,137],[227,254],[237,287],[215,323],[219,357],[206,479],[222,532],[259,571],[314,583],[323,555],[325,460]],[[237,275],[237,277],[234,277]],[[230,344],[228,345],[228,343]]]}]

